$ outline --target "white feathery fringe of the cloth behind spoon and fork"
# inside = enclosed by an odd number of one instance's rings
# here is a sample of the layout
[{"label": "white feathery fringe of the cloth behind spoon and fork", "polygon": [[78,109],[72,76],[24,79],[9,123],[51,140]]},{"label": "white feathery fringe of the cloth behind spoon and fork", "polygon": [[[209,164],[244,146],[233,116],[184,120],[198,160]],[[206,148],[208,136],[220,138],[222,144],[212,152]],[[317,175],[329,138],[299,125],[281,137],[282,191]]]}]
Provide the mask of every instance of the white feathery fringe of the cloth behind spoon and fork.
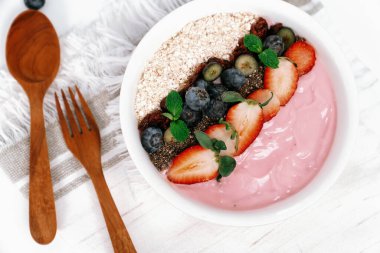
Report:
[{"label": "white feathery fringe of the cloth behind spoon and fork", "polygon": [[[118,96],[138,42],[159,19],[185,2],[109,1],[92,29],[77,28],[61,36],[61,69],[44,100],[46,128],[57,120],[54,92],[60,89],[77,84],[87,98],[104,90]],[[0,84],[0,148],[5,148],[28,137],[30,114],[27,96],[7,70],[0,70]],[[118,122],[118,106],[111,103],[108,111],[112,122]]]}]

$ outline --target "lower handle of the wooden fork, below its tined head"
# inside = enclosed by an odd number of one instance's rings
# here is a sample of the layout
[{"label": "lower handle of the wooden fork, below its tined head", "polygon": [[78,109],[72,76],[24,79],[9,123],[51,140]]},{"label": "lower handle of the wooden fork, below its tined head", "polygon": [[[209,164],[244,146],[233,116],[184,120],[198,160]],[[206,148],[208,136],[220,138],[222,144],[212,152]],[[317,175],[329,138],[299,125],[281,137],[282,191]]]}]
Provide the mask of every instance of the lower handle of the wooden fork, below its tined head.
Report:
[{"label": "lower handle of the wooden fork, below its tined head", "polygon": [[[97,170],[99,171],[99,170]],[[103,173],[91,177],[102,207],[112,246],[115,253],[133,253],[136,249],[117,210]]]}]

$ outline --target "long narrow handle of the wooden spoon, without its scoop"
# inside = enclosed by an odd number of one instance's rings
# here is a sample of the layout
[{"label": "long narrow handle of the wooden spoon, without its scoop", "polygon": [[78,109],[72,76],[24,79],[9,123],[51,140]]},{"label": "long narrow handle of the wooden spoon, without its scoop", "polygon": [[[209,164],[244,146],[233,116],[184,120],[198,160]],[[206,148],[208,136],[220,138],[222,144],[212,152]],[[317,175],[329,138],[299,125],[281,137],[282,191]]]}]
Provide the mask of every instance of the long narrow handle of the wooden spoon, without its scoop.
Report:
[{"label": "long narrow handle of the wooden spoon, without its scoop", "polygon": [[45,134],[43,96],[30,101],[29,227],[34,240],[51,242],[57,230],[53,184]]}]

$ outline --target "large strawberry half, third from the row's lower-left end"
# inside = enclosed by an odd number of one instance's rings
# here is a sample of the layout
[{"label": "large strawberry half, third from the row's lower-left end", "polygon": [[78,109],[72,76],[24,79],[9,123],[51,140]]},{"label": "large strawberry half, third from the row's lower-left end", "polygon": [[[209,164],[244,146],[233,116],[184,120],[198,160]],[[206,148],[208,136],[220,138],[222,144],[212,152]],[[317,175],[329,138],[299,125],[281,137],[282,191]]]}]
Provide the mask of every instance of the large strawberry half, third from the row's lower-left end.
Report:
[{"label": "large strawberry half, third from the row's lower-left end", "polygon": [[239,145],[235,155],[240,155],[259,135],[264,123],[263,110],[258,104],[242,102],[228,110],[226,121],[238,132]]}]

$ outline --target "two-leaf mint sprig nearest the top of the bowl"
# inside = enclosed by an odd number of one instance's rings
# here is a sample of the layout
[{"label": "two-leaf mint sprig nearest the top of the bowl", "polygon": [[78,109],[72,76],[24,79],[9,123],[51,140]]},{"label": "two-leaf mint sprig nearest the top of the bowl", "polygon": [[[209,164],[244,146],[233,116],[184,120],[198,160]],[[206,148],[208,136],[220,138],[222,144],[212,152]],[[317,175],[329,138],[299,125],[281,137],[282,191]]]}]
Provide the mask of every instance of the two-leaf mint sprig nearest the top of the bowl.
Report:
[{"label": "two-leaf mint sprig nearest the top of the bowl", "polygon": [[263,42],[260,37],[254,34],[246,34],[243,39],[244,46],[249,51],[258,54],[260,61],[267,67],[276,69],[279,65],[277,54],[273,49],[267,48],[263,50]]}]

